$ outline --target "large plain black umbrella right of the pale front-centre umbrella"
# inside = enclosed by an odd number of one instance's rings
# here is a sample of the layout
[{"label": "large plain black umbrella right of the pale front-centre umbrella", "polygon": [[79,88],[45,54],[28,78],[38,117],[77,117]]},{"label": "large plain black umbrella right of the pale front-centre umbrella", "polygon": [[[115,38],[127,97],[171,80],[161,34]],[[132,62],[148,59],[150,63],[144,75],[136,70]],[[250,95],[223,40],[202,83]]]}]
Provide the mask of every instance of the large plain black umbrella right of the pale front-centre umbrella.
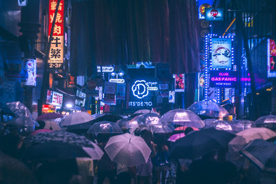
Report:
[{"label": "large plain black umbrella right of the pale front-centre umbrella", "polygon": [[226,150],[228,142],[234,137],[235,134],[215,128],[193,131],[172,145],[170,156],[177,159],[197,159],[216,150]]}]

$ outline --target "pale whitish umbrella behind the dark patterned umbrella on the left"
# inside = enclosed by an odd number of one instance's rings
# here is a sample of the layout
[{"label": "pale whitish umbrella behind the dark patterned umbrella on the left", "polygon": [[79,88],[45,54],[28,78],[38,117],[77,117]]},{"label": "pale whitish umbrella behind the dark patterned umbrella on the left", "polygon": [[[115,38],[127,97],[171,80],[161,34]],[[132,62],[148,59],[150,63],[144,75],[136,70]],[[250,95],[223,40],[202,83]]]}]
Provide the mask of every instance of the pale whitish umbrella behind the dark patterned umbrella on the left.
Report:
[{"label": "pale whitish umbrella behind the dark patterned umbrella on the left", "polygon": [[66,116],[63,121],[61,121],[61,126],[77,125],[81,123],[86,123],[92,121],[94,118],[87,112],[75,112]]}]

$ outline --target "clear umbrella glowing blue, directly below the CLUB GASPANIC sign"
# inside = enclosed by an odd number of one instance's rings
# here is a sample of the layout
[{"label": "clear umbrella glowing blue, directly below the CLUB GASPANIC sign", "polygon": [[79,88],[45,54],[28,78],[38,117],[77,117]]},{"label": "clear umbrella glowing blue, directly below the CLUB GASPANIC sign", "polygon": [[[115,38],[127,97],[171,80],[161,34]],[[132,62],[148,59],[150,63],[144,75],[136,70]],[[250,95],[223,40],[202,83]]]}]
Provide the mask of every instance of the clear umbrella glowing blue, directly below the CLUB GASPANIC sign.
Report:
[{"label": "clear umbrella glowing blue, directly below the CLUB GASPANIC sign", "polygon": [[213,101],[197,101],[190,105],[188,110],[209,117],[224,117],[229,114],[225,108]]}]

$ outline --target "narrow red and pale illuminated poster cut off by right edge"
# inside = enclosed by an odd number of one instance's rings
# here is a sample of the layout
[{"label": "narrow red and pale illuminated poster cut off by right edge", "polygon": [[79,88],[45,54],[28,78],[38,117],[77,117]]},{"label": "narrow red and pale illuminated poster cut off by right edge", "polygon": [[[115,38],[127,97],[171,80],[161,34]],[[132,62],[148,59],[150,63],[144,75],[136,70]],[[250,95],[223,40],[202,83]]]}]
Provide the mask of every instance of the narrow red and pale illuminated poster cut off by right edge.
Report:
[{"label": "narrow red and pale illuminated poster cut off by right edge", "polygon": [[276,77],[276,44],[268,39],[268,77]]}]

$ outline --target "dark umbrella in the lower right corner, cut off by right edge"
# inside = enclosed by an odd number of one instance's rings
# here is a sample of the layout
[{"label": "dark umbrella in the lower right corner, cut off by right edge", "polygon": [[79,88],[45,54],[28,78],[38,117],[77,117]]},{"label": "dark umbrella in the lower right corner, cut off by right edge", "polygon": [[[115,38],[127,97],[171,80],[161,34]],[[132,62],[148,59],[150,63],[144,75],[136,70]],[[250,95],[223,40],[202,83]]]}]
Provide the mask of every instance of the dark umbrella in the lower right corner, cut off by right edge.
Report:
[{"label": "dark umbrella in the lower right corner, cut off by right edge", "polygon": [[262,139],[250,142],[241,153],[261,170],[276,172],[276,144]]}]

